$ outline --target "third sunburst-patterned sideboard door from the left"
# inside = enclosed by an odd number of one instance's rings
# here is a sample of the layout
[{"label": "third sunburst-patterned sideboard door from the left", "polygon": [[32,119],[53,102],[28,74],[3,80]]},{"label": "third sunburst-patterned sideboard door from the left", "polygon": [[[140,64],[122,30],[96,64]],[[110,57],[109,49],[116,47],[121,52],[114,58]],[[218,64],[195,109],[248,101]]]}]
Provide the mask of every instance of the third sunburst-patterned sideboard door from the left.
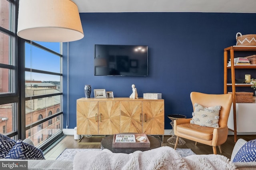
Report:
[{"label": "third sunburst-patterned sideboard door from the left", "polygon": [[121,101],[121,133],[142,133],[142,102]]}]

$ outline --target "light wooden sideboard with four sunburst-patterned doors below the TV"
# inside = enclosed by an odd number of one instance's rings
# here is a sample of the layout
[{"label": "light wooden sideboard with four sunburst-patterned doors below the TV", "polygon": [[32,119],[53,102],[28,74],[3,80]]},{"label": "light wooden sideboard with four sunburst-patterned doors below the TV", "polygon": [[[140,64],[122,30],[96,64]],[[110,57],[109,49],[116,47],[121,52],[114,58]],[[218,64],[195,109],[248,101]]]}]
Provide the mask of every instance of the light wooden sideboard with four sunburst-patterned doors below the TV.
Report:
[{"label": "light wooden sideboard with four sunburst-patterned doors below the TV", "polygon": [[78,135],[164,135],[164,100],[80,98],[76,101],[76,125]]}]

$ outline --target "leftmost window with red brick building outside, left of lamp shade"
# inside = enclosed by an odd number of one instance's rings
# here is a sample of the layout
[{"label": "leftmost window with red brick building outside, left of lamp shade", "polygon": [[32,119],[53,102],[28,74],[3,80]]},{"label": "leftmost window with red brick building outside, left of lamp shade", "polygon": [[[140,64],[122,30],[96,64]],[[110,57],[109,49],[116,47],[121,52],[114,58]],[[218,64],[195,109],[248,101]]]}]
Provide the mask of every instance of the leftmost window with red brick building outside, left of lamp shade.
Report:
[{"label": "leftmost window with red brick building outside, left of lamp shade", "polygon": [[0,133],[15,137],[17,132],[18,71],[14,1],[0,0]]}]

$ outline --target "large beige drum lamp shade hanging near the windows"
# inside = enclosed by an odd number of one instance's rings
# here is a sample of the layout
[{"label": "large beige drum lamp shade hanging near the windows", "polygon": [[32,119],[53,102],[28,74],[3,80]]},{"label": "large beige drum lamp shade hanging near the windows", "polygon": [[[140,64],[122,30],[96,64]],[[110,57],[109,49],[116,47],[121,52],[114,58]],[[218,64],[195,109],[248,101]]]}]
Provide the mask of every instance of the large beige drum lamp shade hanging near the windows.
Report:
[{"label": "large beige drum lamp shade hanging near the windows", "polygon": [[20,0],[17,35],[45,42],[84,37],[78,8],[71,0]]}]

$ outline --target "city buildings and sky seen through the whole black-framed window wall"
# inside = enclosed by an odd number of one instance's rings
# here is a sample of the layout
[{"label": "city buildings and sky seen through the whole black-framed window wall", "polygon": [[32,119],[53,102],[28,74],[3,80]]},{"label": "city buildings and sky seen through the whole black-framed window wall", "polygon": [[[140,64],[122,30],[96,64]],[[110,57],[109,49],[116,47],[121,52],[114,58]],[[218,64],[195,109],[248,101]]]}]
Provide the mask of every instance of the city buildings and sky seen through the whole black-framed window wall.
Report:
[{"label": "city buildings and sky seen through the whole black-framed window wall", "polygon": [[[62,44],[22,40],[17,50],[16,4],[0,1],[0,133],[14,137],[17,121],[25,121],[26,138],[38,146],[62,132]],[[25,72],[18,72],[22,60]]]}]

